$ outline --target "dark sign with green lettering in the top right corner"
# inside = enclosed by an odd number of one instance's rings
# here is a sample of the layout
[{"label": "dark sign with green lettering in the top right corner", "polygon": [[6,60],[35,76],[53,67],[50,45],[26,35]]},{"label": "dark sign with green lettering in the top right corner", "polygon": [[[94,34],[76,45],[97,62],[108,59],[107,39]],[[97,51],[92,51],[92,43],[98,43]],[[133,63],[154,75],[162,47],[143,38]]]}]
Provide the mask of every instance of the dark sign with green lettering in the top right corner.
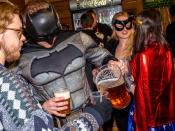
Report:
[{"label": "dark sign with green lettering in the top right corner", "polygon": [[172,4],[172,0],[143,0],[143,8],[161,8]]}]

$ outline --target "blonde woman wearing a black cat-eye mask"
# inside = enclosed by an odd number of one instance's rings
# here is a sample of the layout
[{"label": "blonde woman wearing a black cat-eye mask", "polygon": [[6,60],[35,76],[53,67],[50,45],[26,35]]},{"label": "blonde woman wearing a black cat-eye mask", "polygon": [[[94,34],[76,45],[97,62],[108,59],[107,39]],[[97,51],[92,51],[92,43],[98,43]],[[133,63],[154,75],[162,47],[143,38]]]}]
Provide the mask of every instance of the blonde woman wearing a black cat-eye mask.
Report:
[{"label": "blonde woman wearing a black cat-eye mask", "polygon": [[[125,84],[128,91],[132,91],[133,80],[128,76],[132,76],[128,70],[128,60],[130,60],[133,52],[133,38],[134,38],[134,28],[133,28],[134,16],[129,15],[127,12],[119,12],[113,16],[112,19],[112,36],[105,45],[105,48],[115,56],[115,58],[123,61],[122,72],[125,74]],[[132,95],[131,95],[132,96]],[[114,109],[113,113],[116,117],[117,125],[119,130],[127,130],[129,109],[131,104],[122,110]],[[109,122],[107,126],[111,126]]]}]

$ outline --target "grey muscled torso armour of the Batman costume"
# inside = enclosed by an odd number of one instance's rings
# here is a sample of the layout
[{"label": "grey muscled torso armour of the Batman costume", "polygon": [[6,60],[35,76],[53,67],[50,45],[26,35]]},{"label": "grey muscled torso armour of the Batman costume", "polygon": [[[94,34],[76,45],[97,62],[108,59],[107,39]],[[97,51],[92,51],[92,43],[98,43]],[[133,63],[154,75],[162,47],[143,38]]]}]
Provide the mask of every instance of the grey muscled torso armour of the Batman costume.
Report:
[{"label": "grey muscled torso armour of the Batman costume", "polygon": [[[65,64],[63,59],[60,60],[60,53],[66,51],[68,47],[78,53],[71,52],[72,57],[69,58],[71,61],[67,61]],[[59,58],[55,59],[56,63],[58,63],[58,71],[40,71],[32,77],[31,67],[34,68],[33,61],[51,56],[55,51],[55,55],[58,55]],[[67,54],[69,53],[67,52]],[[70,89],[71,110],[73,110],[80,107],[89,98],[90,88],[85,75],[86,59],[97,66],[101,66],[104,58],[108,55],[110,54],[107,50],[97,47],[96,43],[88,35],[80,32],[57,44],[52,50],[22,54],[16,71],[31,82],[37,91],[38,100],[41,102],[52,98],[53,92],[58,88]],[[62,56],[62,58],[67,59],[67,56],[70,55]],[[49,64],[54,63],[48,63],[48,66]]]}]

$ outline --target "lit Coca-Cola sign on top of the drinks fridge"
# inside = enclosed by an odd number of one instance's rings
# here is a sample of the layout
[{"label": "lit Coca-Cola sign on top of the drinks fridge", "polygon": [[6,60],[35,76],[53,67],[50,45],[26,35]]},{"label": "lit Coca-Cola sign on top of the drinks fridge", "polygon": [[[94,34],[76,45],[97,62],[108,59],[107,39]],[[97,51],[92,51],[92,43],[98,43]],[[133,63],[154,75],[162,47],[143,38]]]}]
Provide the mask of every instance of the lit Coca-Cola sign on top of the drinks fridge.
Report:
[{"label": "lit Coca-Cola sign on top of the drinks fridge", "polygon": [[111,6],[121,4],[121,0],[69,0],[70,10],[96,8],[102,6]]}]

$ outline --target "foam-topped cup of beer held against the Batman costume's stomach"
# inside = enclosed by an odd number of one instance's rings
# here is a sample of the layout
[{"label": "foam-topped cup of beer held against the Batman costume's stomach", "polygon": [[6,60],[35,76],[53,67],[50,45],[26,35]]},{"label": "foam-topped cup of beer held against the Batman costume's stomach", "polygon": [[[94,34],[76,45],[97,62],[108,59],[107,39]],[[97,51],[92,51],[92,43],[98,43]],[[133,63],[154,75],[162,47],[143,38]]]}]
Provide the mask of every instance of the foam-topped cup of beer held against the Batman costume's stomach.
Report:
[{"label": "foam-topped cup of beer held against the Batman costume's stomach", "polygon": [[69,89],[60,89],[54,92],[55,97],[64,97],[65,100],[68,101],[68,108],[65,110],[59,111],[61,114],[70,114],[70,90]]}]

